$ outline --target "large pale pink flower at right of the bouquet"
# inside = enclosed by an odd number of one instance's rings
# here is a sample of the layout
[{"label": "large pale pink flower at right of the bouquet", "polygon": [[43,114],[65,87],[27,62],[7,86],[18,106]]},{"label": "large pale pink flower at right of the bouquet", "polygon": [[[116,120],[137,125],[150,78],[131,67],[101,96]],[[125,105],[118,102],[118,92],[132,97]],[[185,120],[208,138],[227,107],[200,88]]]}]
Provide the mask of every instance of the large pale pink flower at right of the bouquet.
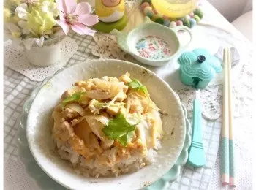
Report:
[{"label": "large pale pink flower at right of the bouquet", "polygon": [[56,0],[60,9],[57,23],[67,35],[69,28],[81,35],[93,36],[96,31],[91,30],[87,26],[94,26],[99,21],[97,15],[91,15],[91,6],[82,2],[77,4],[75,0]]}]

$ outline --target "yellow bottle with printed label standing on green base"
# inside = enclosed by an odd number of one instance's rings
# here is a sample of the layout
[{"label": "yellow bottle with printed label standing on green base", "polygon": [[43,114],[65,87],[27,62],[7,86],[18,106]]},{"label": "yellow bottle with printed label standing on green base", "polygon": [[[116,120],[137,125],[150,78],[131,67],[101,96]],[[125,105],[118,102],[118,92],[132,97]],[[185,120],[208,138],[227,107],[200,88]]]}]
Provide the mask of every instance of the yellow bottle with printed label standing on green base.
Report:
[{"label": "yellow bottle with printed label standing on green base", "polygon": [[124,0],[96,0],[95,13],[104,23],[113,23],[124,16]]}]

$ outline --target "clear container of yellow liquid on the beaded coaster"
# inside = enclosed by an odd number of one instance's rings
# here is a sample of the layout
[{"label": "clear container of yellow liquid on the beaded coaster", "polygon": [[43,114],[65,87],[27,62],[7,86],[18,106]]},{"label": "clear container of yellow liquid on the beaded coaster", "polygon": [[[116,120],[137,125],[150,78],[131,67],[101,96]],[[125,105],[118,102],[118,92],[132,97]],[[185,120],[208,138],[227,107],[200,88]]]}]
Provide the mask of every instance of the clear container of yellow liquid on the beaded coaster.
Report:
[{"label": "clear container of yellow liquid on the beaded coaster", "polygon": [[151,0],[157,12],[170,18],[189,15],[196,8],[198,0]]}]

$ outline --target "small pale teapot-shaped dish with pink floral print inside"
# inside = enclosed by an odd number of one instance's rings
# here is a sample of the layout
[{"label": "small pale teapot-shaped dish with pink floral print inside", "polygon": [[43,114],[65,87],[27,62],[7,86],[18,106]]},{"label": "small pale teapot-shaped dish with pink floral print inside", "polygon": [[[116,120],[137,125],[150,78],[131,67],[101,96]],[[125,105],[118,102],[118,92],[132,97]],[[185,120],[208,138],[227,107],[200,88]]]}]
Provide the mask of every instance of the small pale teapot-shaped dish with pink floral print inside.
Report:
[{"label": "small pale teapot-shaped dish with pink floral print inside", "polygon": [[[128,34],[124,32],[120,32],[118,30],[113,30],[110,34],[116,35],[118,46],[124,50],[124,52],[129,53],[136,60],[140,61],[143,64],[147,64],[150,66],[163,66],[167,64],[171,59],[181,53],[187,47],[187,45],[181,45],[178,39],[178,31],[187,31],[190,35],[190,41],[192,41],[192,33],[187,26],[176,26],[175,28],[168,28],[166,26],[162,26],[159,23],[152,22],[148,17],[144,19],[144,23],[140,24],[136,28],[129,31]],[[154,39],[159,39],[162,41],[162,44],[165,44],[167,49],[170,50],[167,55],[163,58],[155,57],[155,58],[146,58],[140,55],[136,46],[141,39],[145,39],[145,37],[153,37]],[[153,43],[157,43],[158,40],[154,40]],[[151,44],[153,44],[151,43]],[[147,45],[146,45],[147,46]],[[155,50],[161,50],[163,47],[155,46]],[[152,51],[148,52],[145,47],[143,47],[142,52],[147,52],[148,55],[152,55]],[[163,52],[162,52],[163,53]],[[159,53],[162,55],[162,53]]]}]

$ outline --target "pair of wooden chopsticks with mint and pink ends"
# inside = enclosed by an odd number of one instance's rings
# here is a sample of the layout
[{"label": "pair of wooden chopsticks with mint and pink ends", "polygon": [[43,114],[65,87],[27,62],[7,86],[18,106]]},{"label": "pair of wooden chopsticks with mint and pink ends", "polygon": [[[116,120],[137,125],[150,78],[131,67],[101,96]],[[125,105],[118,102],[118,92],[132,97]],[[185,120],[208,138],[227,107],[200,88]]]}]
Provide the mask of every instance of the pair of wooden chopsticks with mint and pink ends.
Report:
[{"label": "pair of wooden chopsticks with mint and pink ends", "polygon": [[233,153],[233,106],[231,86],[231,53],[230,48],[225,48],[223,53],[225,83],[223,98],[223,123],[222,123],[222,184],[236,186]]}]

